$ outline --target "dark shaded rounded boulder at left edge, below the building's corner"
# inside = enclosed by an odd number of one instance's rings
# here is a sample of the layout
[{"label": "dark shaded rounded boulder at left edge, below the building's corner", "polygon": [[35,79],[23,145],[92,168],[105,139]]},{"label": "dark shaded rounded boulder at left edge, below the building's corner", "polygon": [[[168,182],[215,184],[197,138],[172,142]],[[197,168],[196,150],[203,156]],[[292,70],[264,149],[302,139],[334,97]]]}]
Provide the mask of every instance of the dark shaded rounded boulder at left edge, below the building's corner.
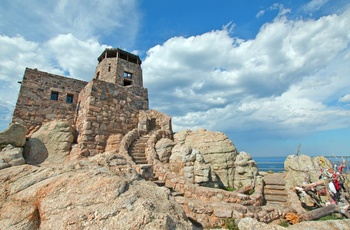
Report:
[{"label": "dark shaded rounded boulder at left edge, below the building's corner", "polygon": [[23,147],[26,144],[27,128],[24,125],[14,123],[0,132],[0,146],[11,144],[15,147]]}]

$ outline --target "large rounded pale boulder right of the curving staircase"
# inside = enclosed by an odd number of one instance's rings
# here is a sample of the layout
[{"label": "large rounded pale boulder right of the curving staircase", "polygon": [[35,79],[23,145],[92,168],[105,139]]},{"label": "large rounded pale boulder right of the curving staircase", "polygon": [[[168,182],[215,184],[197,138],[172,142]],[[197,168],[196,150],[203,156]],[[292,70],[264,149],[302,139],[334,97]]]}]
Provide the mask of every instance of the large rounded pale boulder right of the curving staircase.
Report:
[{"label": "large rounded pale boulder right of the curving staircase", "polygon": [[[180,150],[182,146],[197,149],[203,157],[204,163],[210,165],[211,174],[219,180],[218,183],[225,187],[233,187],[237,149],[225,134],[205,129],[184,130],[176,133],[174,139],[176,145],[173,148],[170,160],[179,155],[176,151]],[[173,154],[175,154],[174,157]],[[184,156],[190,157],[191,155],[185,154]]]}]

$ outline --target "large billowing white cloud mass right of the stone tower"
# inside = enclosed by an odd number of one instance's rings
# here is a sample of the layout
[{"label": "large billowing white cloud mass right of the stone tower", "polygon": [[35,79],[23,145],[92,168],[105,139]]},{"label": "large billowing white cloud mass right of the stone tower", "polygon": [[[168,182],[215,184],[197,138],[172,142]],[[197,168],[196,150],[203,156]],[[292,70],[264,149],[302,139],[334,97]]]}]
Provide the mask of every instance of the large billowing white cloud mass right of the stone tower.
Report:
[{"label": "large billowing white cloud mass right of the stone tower", "polygon": [[348,127],[349,110],[334,103],[350,86],[349,31],[347,10],[278,17],[246,41],[225,29],[171,38],[143,62],[151,107],[173,116],[175,130],[296,135]]}]

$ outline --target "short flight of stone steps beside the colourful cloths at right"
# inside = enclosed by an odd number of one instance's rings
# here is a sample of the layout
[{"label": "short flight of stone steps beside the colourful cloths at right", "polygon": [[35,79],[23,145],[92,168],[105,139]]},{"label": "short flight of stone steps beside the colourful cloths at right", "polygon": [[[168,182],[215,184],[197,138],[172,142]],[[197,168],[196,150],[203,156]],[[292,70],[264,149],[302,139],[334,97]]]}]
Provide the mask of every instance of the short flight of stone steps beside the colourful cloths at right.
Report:
[{"label": "short flight of stone steps beside the colourful cloths at right", "polygon": [[264,198],[266,205],[285,205],[288,194],[285,188],[285,173],[267,174],[264,176]]}]

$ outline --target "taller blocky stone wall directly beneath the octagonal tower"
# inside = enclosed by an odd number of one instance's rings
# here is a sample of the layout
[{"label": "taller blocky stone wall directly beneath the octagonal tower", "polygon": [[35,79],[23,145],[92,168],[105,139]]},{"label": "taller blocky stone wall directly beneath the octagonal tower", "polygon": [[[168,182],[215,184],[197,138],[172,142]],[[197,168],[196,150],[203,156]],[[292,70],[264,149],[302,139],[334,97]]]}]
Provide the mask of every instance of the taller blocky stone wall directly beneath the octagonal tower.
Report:
[{"label": "taller blocky stone wall directly beneath the octagonal tower", "polygon": [[78,143],[84,144],[90,155],[102,153],[111,135],[125,135],[137,128],[139,110],[147,109],[147,89],[93,79],[79,95]]}]

